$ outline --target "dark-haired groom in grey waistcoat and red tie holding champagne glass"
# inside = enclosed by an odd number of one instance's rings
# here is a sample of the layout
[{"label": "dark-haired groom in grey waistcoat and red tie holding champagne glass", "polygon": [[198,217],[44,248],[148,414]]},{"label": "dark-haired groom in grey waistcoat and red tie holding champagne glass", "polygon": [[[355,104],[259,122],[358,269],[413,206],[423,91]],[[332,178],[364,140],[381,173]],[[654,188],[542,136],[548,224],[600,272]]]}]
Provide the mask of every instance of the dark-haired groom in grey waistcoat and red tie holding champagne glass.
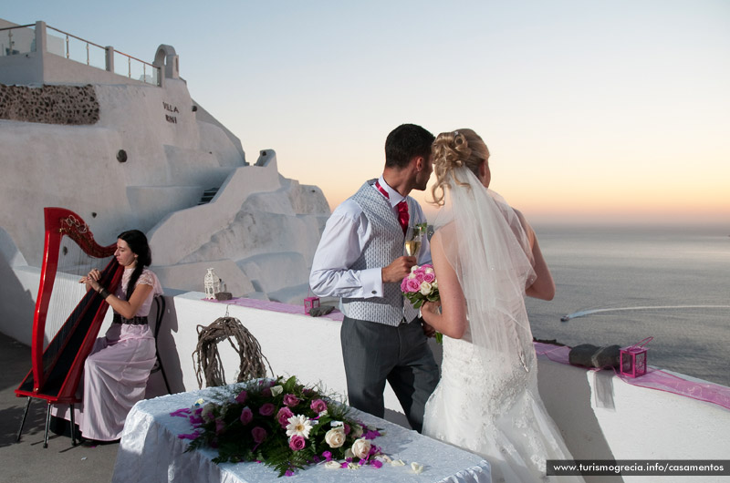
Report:
[{"label": "dark-haired groom in grey waistcoat and red tie holding champagne glass", "polygon": [[429,328],[404,302],[401,280],[416,262],[431,262],[428,240],[418,260],[403,256],[403,241],[409,225],[426,221],[408,193],[426,189],[433,139],[413,124],[391,131],[380,179],[365,182],[332,212],[309,275],[312,292],[340,297],[349,405],[383,417],[387,380],[419,432],[439,370],[424,334]]}]

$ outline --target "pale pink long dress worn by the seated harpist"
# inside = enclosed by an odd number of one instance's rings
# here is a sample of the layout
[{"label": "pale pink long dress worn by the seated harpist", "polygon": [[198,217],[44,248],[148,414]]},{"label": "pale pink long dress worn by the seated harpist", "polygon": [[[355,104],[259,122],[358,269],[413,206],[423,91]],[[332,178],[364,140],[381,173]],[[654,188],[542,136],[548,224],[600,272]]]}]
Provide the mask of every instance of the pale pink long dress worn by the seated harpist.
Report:
[{"label": "pale pink long dress worn by the seated harpist", "polygon": [[[120,287],[114,293],[121,300],[127,299],[131,272],[132,269],[124,270]],[[147,316],[154,296],[162,293],[162,286],[146,268],[137,285],[141,283],[151,285],[152,292],[136,315]],[[97,339],[84,365],[83,402],[75,406],[74,415],[83,437],[99,441],[121,437],[131,407],[144,398],[154,363],[154,334],[150,325],[111,324],[106,336]],[[70,418],[68,406],[58,405],[54,412],[56,416]]]}]

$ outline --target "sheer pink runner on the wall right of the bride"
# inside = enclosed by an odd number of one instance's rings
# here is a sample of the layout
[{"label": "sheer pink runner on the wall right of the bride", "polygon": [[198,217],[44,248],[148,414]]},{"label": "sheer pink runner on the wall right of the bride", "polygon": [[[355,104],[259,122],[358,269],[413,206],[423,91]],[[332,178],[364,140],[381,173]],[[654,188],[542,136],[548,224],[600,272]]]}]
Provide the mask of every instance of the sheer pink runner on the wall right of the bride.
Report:
[{"label": "sheer pink runner on the wall right of the bride", "polygon": [[[561,364],[570,364],[568,362],[570,347],[536,342],[535,352],[537,355],[543,355],[551,361]],[[631,385],[639,385],[641,387],[658,389],[660,391],[666,391],[680,396],[692,397],[693,399],[713,403],[730,409],[730,387],[725,387],[725,385],[688,381],[682,377],[669,374],[652,366],[649,366],[647,373],[645,375],[641,375],[641,377],[632,378],[626,375],[620,375],[618,372],[616,375],[620,377],[623,382]]]}]

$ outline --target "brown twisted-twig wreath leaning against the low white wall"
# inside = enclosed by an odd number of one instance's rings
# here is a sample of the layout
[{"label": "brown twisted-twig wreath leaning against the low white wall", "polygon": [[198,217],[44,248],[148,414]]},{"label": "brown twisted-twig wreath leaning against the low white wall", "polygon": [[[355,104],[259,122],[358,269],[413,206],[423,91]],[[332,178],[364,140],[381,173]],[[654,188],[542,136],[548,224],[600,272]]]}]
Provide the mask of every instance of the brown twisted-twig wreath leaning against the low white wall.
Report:
[{"label": "brown twisted-twig wreath leaning against the low white wall", "polygon": [[[274,375],[271,365],[261,353],[261,345],[253,334],[248,332],[244,324],[235,317],[226,316],[215,319],[213,324],[198,325],[198,345],[193,352],[193,365],[198,378],[198,387],[214,387],[225,385],[225,373],[218,344],[227,340],[238,353],[241,364],[235,382],[240,383],[256,377],[266,376],[266,365]],[[264,365],[266,361],[266,365]]]}]

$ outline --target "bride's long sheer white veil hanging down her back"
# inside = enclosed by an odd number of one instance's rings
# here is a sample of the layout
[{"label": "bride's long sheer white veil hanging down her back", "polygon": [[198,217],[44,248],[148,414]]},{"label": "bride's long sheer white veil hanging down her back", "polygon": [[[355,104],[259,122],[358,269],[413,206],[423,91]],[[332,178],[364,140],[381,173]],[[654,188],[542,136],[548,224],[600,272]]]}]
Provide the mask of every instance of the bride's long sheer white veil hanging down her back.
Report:
[{"label": "bride's long sheer white veil hanging down her back", "polygon": [[471,170],[454,168],[446,177],[434,227],[464,292],[472,343],[485,357],[512,361],[506,371],[527,370],[534,351],[524,297],[535,280],[527,234]]}]

